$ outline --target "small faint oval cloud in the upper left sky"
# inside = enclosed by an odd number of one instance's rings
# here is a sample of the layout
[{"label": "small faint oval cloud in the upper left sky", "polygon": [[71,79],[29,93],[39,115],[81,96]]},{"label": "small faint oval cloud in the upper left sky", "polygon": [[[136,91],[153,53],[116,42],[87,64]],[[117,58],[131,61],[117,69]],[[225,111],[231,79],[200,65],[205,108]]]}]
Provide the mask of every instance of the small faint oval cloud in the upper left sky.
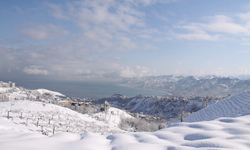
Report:
[{"label": "small faint oval cloud in the upper left sky", "polygon": [[35,40],[45,40],[60,38],[69,34],[69,31],[52,24],[35,24],[33,27],[21,29],[20,33]]}]

